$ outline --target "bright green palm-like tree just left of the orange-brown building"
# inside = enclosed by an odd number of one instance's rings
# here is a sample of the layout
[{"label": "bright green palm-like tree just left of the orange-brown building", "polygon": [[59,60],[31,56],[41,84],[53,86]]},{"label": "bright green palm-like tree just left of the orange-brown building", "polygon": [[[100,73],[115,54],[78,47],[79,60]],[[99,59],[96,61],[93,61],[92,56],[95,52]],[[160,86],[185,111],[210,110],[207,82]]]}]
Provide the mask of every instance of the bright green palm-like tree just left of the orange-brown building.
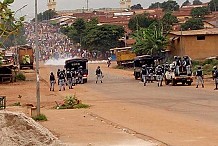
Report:
[{"label": "bright green palm-like tree just left of the orange-brown building", "polygon": [[136,54],[160,55],[161,51],[168,45],[167,37],[162,28],[161,23],[153,23],[148,28],[141,28],[135,32],[133,36],[136,43],[133,49]]}]

